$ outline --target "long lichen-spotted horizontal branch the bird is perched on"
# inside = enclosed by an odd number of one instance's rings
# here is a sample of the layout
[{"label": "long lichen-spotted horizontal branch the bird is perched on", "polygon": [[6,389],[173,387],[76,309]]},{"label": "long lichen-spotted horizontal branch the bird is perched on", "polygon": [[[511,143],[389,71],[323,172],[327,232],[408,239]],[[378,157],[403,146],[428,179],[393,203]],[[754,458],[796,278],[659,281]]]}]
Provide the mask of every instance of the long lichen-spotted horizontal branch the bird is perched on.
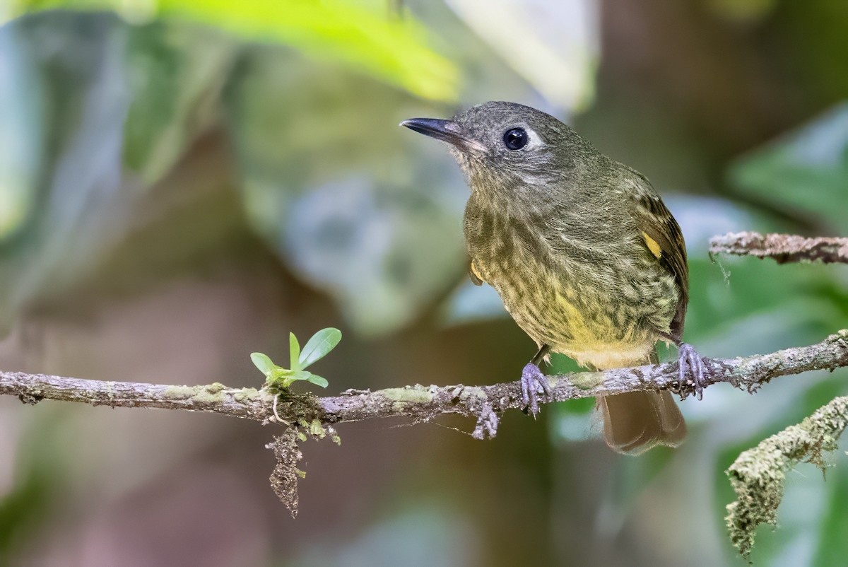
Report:
[{"label": "long lichen-spotted horizontal branch the bird is perched on", "polygon": [[[706,385],[728,382],[750,392],[777,376],[848,366],[848,330],[829,336],[817,345],[789,348],[767,355],[707,359],[712,375]],[[605,372],[582,372],[550,376],[551,400],[566,401],[591,396],[611,396],[638,390],[674,390],[687,396],[692,385],[678,385],[676,362]],[[95,406],[159,407],[163,409],[220,413],[234,418],[275,421],[274,398],[266,390],[232,389],[215,383],[181,386],[132,382],[103,382],[0,372],[0,394],[19,396],[36,403],[42,399],[81,401]],[[284,393],[276,415],[290,423],[334,424],[372,418],[405,417],[426,421],[444,413],[478,419],[475,436],[494,435],[496,414],[522,407],[520,382],[488,386],[404,386],[386,390],[347,390],[340,396],[315,397]]]}]

